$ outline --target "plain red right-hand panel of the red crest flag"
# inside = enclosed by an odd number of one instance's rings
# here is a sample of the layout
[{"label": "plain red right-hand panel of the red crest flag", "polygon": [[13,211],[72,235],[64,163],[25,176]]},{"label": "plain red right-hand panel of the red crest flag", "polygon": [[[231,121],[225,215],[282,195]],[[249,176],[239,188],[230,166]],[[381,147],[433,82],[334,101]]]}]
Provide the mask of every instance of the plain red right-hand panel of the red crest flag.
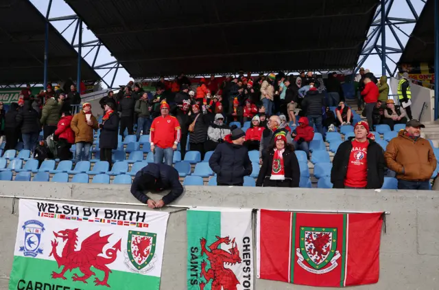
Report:
[{"label": "plain red right-hand panel of the red crest flag", "polygon": [[348,215],[345,286],[378,282],[379,245],[383,225],[381,216],[381,212]]}]

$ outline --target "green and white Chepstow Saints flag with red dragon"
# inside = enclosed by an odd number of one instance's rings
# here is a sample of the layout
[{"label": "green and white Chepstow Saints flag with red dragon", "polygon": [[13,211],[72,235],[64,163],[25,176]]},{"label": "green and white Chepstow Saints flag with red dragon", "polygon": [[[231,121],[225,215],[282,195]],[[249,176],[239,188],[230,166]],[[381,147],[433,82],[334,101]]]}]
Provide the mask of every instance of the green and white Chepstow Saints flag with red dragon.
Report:
[{"label": "green and white Chepstow Saints flag with red dragon", "polygon": [[187,211],[187,289],[253,289],[252,210]]}]

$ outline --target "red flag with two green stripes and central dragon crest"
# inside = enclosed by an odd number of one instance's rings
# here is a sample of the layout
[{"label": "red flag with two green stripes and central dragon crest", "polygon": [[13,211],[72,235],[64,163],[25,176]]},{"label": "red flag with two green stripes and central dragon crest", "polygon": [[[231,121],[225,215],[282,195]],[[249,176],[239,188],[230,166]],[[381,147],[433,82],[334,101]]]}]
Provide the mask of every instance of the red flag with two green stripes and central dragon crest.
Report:
[{"label": "red flag with two green stripes and central dragon crest", "polygon": [[378,282],[381,214],[259,210],[258,278],[317,287]]}]

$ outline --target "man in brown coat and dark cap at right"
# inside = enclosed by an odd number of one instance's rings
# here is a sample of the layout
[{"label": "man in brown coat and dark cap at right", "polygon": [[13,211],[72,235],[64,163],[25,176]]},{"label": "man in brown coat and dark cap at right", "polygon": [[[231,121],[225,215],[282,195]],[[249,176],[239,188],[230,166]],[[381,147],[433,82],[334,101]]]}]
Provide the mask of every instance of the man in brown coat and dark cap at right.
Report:
[{"label": "man in brown coat and dark cap at right", "polygon": [[436,157],[429,141],[420,137],[421,128],[425,126],[418,120],[410,120],[385,150],[385,161],[396,172],[398,189],[429,190]]}]

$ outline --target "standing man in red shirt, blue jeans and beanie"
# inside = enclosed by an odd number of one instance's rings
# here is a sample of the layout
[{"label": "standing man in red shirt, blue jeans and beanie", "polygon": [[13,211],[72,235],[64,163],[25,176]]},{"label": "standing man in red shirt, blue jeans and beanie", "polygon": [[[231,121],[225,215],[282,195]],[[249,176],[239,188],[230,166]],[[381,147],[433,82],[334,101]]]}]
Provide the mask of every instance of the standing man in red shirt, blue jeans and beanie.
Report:
[{"label": "standing man in red shirt, blue jeans and beanie", "polygon": [[[172,166],[174,151],[178,148],[181,138],[181,128],[177,118],[169,115],[169,104],[162,102],[161,115],[152,121],[150,141],[151,152],[154,153],[154,163]],[[185,146],[185,144],[182,144]]]}]

